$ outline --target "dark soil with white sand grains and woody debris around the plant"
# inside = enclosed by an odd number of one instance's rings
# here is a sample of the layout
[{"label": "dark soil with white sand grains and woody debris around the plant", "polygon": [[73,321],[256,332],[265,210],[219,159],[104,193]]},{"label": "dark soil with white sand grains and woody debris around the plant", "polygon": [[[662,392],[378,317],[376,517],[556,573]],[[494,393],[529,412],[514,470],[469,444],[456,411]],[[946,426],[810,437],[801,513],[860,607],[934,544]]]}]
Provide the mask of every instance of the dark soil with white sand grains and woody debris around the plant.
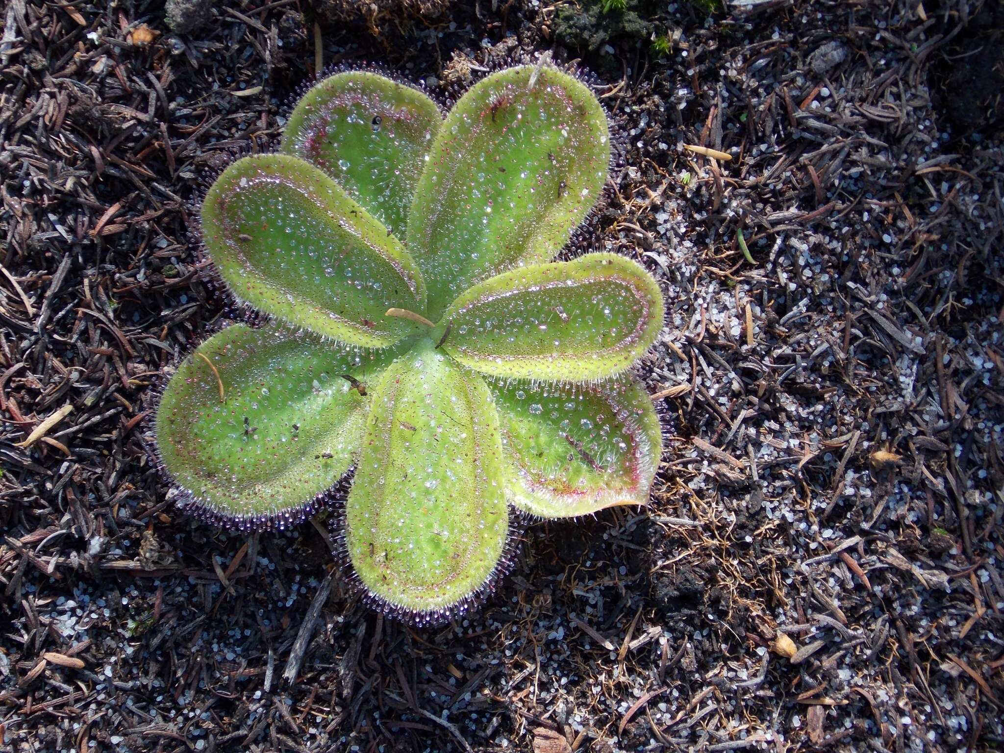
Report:
[{"label": "dark soil with white sand grains and woody debris around the plant", "polygon": [[[168,6],[0,4],[0,748],[1004,743],[999,7]],[[318,59],[448,98],[545,50],[624,137],[594,245],[666,293],[671,441],[648,509],[531,526],[410,629],[311,525],[201,524],[152,466],[158,380],[230,315],[193,203]]]}]

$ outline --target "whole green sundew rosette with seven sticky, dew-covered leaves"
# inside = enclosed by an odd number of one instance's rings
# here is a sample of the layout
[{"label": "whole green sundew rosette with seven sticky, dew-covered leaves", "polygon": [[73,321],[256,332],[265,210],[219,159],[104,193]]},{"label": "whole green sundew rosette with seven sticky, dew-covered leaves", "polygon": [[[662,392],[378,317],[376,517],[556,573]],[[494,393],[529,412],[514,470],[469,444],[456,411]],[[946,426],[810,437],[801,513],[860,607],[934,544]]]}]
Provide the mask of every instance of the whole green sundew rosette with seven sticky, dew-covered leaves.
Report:
[{"label": "whole green sundew rosette with seven sticky, dew-covered leaves", "polygon": [[554,261],[609,161],[596,97],[549,64],[488,75],[445,117],[373,72],[309,89],[279,153],[202,205],[219,277],[266,316],[164,390],[183,505],[283,527],[354,468],[335,550],[368,603],[427,623],[491,587],[522,517],[646,503],[660,424],[630,368],[662,294],[621,256]]}]

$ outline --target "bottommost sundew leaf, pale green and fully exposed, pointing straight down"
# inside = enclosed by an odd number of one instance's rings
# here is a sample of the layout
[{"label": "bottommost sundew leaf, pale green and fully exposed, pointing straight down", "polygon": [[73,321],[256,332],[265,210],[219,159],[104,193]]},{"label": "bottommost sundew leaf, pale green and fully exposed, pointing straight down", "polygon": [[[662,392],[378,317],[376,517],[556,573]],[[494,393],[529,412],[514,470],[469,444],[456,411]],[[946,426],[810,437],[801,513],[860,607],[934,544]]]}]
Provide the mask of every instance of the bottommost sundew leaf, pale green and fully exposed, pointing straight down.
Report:
[{"label": "bottommost sundew leaf, pale green and fully exposed, pointing straight down", "polygon": [[420,343],[373,390],[345,510],[362,583],[432,616],[491,578],[508,533],[498,418],[480,376]]}]

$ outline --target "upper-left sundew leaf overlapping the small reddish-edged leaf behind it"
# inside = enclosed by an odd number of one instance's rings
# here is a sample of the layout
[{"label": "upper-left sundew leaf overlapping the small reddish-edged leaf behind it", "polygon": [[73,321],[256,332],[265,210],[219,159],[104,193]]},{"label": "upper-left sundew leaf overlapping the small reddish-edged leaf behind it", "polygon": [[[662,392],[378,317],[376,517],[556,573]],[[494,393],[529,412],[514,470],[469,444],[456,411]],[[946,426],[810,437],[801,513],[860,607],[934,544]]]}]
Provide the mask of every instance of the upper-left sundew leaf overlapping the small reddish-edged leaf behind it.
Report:
[{"label": "upper-left sundew leaf overlapping the small reddish-edged leaf behind it", "polygon": [[210,258],[234,294],[265,313],[353,345],[383,347],[415,330],[385,316],[425,309],[404,246],[320,170],[296,157],[246,157],[202,207]]}]

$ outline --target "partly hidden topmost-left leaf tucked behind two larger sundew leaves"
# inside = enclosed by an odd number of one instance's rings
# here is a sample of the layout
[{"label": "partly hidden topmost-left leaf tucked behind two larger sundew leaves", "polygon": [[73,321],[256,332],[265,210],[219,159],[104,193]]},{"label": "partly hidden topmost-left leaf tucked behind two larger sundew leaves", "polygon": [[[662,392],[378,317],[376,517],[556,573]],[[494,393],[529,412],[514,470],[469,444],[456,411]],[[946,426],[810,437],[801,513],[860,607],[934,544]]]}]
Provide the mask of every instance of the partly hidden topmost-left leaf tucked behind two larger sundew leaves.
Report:
[{"label": "partly hidden topmost-left leaf tucked behind two larger sundew leaves", "polygon": [[297,102],[282,151],[323,170],[399,238],[425,157],[443,122],[418,89],[349,70],[328,76]]}]

